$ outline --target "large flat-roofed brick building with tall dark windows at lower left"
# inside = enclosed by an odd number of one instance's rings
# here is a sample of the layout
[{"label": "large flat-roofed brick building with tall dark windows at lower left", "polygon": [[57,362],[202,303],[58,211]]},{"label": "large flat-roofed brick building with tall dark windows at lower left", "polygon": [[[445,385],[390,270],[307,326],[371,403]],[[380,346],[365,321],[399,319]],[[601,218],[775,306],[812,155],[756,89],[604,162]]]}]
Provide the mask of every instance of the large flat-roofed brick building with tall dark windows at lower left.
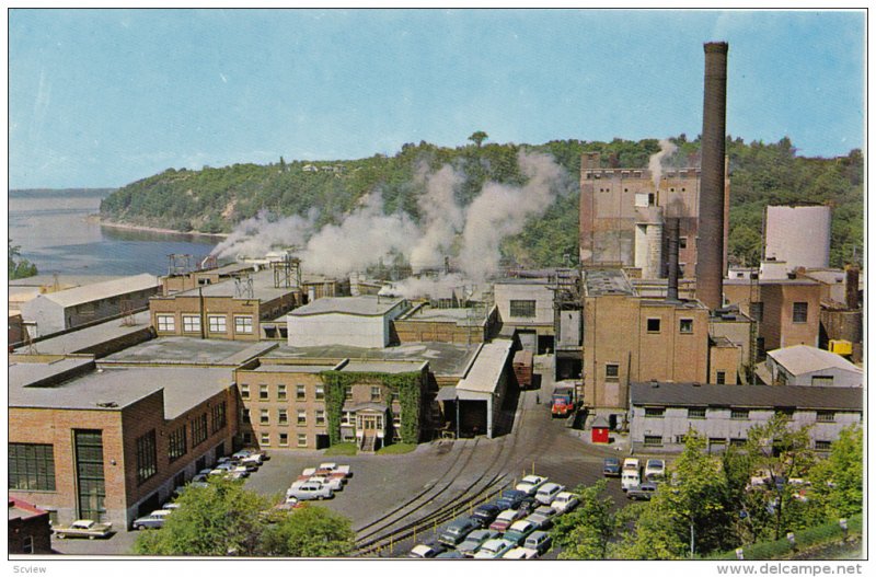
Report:
[{"label": "large flat-roofed brick building with tall dark windows at lower left", "polygon": [[231,371],[22,357],[9,367],[9,494],[53,519],[129,527],[229,454]]}]

